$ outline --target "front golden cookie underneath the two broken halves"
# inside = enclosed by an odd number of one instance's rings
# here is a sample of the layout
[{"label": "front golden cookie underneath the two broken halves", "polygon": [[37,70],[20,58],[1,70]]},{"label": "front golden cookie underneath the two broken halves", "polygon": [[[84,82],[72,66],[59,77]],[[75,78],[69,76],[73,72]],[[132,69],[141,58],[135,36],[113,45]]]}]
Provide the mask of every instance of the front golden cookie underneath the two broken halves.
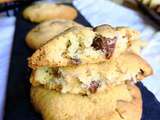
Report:
[{"label": "front golden cookie underneath the two broken halves", "polygon": [[118,85],[89,96],[31,88],[31,101],[44,120],[140,120],[142,100],[134,85]]}]

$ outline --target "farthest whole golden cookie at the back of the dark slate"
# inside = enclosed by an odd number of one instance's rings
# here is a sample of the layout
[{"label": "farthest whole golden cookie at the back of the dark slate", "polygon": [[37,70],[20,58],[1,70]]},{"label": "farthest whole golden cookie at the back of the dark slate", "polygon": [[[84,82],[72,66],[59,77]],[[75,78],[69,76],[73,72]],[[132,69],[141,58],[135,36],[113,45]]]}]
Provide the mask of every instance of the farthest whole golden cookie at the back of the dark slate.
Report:
[{"label": "farthest whole golden cookie at the back of the dark slate", "polygon": [[77,11],[68,5],[37,2],[27,7],[23,11],[23,16],[37,23],[51,19],[74,20],[77,17]]}]

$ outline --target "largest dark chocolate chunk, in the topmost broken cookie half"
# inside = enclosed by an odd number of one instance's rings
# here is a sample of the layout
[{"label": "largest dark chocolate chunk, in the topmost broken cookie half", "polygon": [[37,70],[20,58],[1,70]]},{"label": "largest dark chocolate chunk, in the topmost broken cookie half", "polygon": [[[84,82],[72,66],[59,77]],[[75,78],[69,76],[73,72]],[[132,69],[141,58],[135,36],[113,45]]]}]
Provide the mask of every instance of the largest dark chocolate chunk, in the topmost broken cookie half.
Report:
[{"label": "largest dark chocolate chunk, in the topmost broken cookie half", "polygon": [[115,49],[117,38],[106,38],[101,35],[97,35],[91,46],[93,46],[96,50],[101,50],[105,53],[106,58],[109,59]]}]

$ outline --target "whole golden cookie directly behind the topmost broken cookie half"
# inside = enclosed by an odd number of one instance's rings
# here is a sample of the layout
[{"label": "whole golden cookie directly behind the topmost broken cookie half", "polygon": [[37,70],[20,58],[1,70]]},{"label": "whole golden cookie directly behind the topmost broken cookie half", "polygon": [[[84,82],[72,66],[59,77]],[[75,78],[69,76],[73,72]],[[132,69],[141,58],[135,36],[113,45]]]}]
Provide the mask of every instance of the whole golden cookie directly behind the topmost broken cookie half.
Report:
[{"label": "whole golden cookie directly behind the topmost broken cookie half", "polygon": [[33,28],[26,36],[26,43],[32,49],[38,49],[56,35],[64,32],[70,27],[82,25],[71,20],[49,20]]}]

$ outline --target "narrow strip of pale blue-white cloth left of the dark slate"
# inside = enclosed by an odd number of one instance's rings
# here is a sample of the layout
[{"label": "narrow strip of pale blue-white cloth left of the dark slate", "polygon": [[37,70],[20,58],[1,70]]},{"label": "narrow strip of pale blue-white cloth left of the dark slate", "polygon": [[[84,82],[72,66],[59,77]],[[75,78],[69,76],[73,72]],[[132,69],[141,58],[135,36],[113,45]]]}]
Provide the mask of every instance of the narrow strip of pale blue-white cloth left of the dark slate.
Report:
[{"label": "narrow strip of pale blue-white cloth left of the dark slate", "polygon": [[0,120],[4,107],[4,95],[7,83],[9,60],[15,29],[15,17],[0,19]]}]

